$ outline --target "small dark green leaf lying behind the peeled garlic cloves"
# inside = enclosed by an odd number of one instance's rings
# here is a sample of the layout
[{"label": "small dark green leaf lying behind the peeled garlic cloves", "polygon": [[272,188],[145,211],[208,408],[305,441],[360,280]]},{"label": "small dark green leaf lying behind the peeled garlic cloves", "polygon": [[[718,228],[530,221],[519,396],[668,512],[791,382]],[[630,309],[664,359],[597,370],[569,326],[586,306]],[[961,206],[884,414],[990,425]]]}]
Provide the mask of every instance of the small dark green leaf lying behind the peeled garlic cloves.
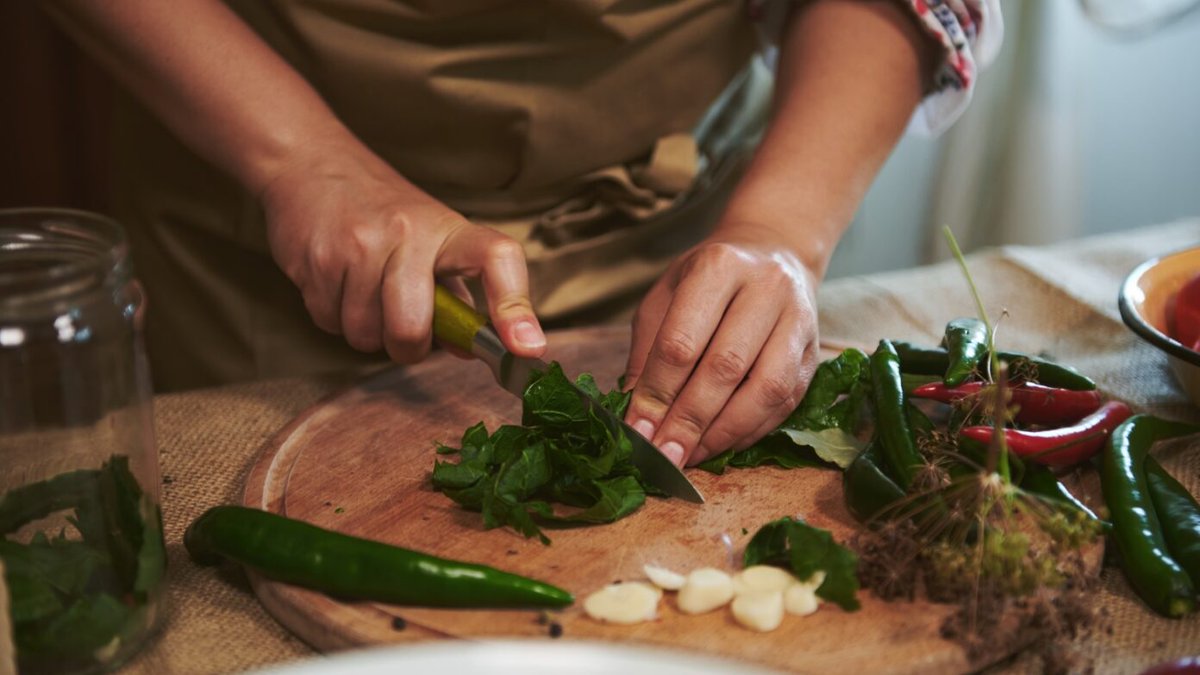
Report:
[{"label": "small dark green leaf lying behind the peeled garlic cloves", "polygon": [[846,611],[859,608],[858,556],[838,544],[828,530],[803,520],[781,518],[763,525],[746,544],[743,565],[774,565],[791,569],[797,579],[826,574],[817,595]]}]

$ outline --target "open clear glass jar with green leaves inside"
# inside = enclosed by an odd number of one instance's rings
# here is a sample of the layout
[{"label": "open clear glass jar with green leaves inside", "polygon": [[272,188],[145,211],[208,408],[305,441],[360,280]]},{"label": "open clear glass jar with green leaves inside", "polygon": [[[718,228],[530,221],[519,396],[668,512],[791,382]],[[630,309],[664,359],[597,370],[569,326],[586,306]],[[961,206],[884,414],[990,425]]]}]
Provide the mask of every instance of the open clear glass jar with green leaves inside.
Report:
[{"label": "open clear glass jar with green leaves inside", "polygon": [[144,311],[116,222],[0,210],[0,558],[22,674],[115,668],[162,614]]}]

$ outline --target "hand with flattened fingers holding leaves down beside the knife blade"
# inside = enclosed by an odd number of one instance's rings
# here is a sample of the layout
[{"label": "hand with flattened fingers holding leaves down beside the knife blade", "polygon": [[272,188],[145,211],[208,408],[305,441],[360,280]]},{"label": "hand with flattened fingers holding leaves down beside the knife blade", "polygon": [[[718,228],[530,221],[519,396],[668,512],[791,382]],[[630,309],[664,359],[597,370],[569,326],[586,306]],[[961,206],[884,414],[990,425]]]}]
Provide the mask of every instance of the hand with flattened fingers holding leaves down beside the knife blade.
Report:
[{"label": "hand with flattened fingers holding leaves down beside the knife blade", "polygon": [[730,229],[674,261],[634,317],[626,422],[679,466],[764,436],[816,369],[816,275],[767,228]]}]

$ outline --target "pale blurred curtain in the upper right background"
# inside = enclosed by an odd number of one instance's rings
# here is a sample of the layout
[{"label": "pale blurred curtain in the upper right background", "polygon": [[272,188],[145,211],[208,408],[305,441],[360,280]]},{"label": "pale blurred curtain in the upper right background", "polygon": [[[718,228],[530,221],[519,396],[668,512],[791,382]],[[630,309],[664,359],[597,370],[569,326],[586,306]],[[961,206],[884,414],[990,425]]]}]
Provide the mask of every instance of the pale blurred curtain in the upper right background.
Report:
[{"label": "pale blurred curtain in the upper right background", "polygon": [[[1200,135],[1187,107],[1200,95],[1186,94],[1200,90],[1193,66],[1200,64],[1200,17],[1186,16],[1195,0],[1004,0],[1002,6],[1000,58],[941,141],[925,259],[948,256],[943,225],[970,250],[1198,215]],[[1127,94],[1160,98],[1162,106],[1122,98]],[[1190,98],[1176,100],[1181,95]],[[1106,123],[1105,115],[1120,113],[1097,109],[1097,101],[1127,106],[1128,126]],[[1157,121],[1138,119],[1141,106],[1162,114]],[[1147,144],[1160,148],[1142,148]],[[1147,166],[1121,174],[1120,165],[1138,161],[1139,150]],[[1097,161],[1105,166],[1092,166]],[[1112,193],[1121,190],[1128,193]],[[1106,213],[1110,204],[1128,213]]]}]

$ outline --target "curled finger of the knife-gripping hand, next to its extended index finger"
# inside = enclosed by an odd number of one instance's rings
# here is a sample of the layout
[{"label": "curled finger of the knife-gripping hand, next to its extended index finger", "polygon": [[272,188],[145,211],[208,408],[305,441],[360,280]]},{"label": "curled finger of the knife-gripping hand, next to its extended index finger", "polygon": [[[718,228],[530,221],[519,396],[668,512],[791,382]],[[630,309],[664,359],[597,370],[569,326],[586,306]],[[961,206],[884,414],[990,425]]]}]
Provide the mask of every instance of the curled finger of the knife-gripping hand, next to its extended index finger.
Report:
[{"label": "curled finger of the knife-gripping hand, next to its extended index finger", "polygon": [[383,344],[397,363],[421,360],[433,340],[433,263],[419,253],[397,250],[384,265]]}]

